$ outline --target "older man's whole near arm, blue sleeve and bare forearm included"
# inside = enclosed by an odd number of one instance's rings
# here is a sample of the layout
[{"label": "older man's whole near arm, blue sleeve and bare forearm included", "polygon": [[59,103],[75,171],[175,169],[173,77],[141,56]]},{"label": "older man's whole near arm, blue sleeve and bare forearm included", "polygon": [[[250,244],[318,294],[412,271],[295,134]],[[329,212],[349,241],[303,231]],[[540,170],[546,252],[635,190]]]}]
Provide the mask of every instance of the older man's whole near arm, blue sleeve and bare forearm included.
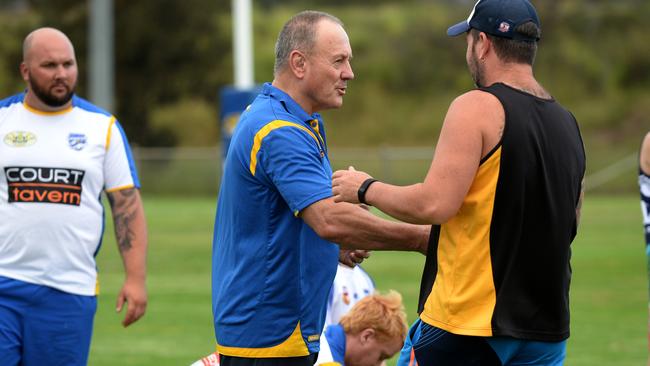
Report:
[{"label": "older man's whole near arm, blue sleeve and bare forearm included", "polygon": [[[293,212],[298,211],[320,237],[343,249],[426,253],[430,226],[380,219],[358,205],[334,203],[330,173],[314,149],[320,148],[318,138],[294,125],[288,122],[259,139],[253,175],[274,185]],[[363,258],[356,259],[358,263]]]}]

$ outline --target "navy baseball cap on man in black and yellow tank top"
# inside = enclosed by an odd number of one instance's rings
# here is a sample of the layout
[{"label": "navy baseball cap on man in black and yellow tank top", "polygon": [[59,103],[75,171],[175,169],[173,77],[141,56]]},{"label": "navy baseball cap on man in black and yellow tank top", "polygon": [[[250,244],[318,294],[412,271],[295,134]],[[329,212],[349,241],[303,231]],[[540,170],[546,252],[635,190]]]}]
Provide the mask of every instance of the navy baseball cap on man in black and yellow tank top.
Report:
[{"label": "navy baseball cap on man in black and yellow tank top", "polygon": [[457,36],[474,28],[496,37],[538,41],[539,38],[515,32],[517,26],[526,22],[533,22],[540,27],[537,11],[528,0],[478,0],[467,20],[449,27],[447,35]]}]

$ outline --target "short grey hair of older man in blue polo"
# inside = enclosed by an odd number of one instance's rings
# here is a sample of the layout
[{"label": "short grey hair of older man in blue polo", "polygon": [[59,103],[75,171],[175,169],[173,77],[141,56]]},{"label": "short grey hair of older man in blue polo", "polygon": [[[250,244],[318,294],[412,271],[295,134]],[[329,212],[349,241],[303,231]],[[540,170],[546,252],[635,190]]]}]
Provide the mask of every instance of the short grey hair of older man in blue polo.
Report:
[{"label": "short grey hair of older man in blue polo", "polygon": [[343,26],[343,22],[334,15],[314,10],[302,11],[284,24],[275,43],[274,75],[286,66],[291,51],[309,53],[312,50],[316,43],[316,24],[323,19]]}]

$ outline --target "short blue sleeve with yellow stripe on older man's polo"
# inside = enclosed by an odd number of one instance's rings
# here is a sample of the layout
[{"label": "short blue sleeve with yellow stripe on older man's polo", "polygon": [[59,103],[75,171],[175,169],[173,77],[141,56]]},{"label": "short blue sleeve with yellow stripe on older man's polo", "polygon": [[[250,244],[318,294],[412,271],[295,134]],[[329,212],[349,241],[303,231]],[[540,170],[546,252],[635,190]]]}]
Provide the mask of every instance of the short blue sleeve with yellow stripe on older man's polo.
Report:
[{"label": "short blue sleeve with yellow stripe on older man's polo", "polygon": [[323,147],[315,136],[299,127],[271,131],[262,141],[258,162],[296,214],[332,196],[332,170]]}]

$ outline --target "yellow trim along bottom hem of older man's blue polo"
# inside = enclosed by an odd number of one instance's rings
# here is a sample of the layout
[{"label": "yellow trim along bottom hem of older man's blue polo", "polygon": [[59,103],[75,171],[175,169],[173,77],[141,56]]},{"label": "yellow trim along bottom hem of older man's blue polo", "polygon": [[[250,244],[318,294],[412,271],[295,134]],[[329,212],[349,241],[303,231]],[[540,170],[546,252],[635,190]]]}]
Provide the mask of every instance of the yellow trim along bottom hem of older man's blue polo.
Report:
[{"label": "yellow trim along bottom hem of older man's blue polo", "polygon": [[300,332],[300,322],[296,325],[296,329],[284,342],[273,347],[265,348],[243,348],[243,347],[225,347],[217,343],[217,351],[222,355],[234,357],[299,357],[308,356],[309,350],[305,341],[302,339]]}]

